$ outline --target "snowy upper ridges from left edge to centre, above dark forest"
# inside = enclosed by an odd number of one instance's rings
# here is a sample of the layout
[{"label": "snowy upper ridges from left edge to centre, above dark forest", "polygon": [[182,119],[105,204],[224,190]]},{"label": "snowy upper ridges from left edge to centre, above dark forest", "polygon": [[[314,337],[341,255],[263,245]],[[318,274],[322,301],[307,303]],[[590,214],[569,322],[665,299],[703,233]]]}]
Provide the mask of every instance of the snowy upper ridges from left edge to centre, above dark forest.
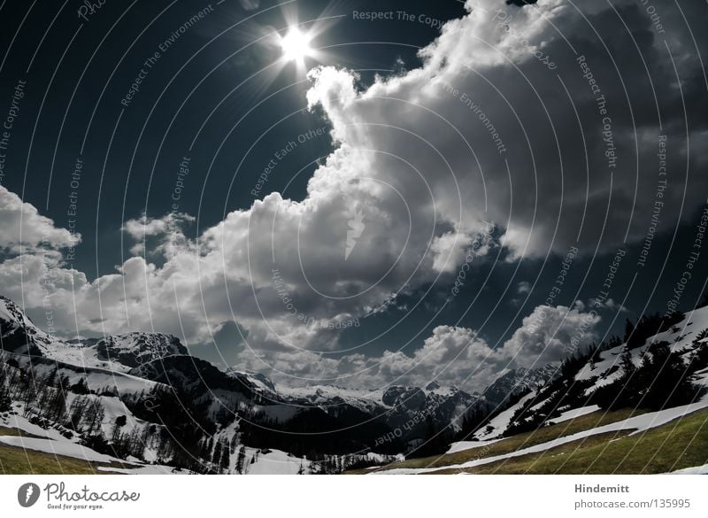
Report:
[{"label": "snowy upper ridges from left edge to centre, above dark forest", "polygon": [[179,338],[172,335],[133,332],[100,339],[59,339],[37,328],[18,305],[4,297],[0,297],[0,339],[2,349],[7,352],[131,373],[179,387],[186,393],[220,390],[226,397],[238,394],[239,398],[250,398],[261,406],[291,405],[325,411],[351,406],[373,416],[395,410],[398,419],[425,413],[439,417],[437,424],[447,426],[477,398],[435,382],[425,389],[390,386],[360,390],[335,385],[276,389],[266,375],[240,371],[237,366],[222,372],[209,362],[190,356]]}]

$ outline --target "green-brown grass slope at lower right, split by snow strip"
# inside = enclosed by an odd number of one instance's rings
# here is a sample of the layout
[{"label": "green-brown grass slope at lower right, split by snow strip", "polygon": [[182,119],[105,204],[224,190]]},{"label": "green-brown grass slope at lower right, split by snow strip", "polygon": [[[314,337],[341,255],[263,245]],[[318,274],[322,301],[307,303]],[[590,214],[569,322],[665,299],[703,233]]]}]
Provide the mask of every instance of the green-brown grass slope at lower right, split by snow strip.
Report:
[{"label": "green-brown grass slope at lower right, split by snow strip", "polygon": [[405,460],[379,469],[350,473],[385,472],[396,468],[441,468],[431,473],[643,474],[665,473],[708,463],[708,410],[701,410],[635,436],[629,435],[632,431],[630,429],[614,431],[585,437],[544,452],[497,460],[473,468],[443,468],[516,452],[554,438],[622,421],[636,414],[636,411],[631,410],[596,412],[463,452]]}]

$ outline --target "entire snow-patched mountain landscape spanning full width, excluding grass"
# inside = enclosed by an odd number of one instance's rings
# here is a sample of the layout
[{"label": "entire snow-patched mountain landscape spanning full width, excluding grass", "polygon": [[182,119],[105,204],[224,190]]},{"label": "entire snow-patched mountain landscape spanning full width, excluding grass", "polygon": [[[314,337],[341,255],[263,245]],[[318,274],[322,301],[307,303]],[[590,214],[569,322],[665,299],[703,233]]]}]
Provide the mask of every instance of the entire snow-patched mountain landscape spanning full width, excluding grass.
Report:
[{"label": "entire snow-patched mountain landscape spanning full width, excluding grass", "polygon": [[[640,369],[647,359],[666,356],[657,344],[670,344],[667,354],[690,367],[684,377],[699,390],[708,377],[701,370],[708,363],[708,311],[696,310],[690,322],[677,325],[684,318],[644,321],[637,326],[647,335],[643,340],[511,370],[481,394],[470,394],[435,382],[380,390],[281,387],[265,375],[222,370],[191,356],[171,335],[61,340],[0,297],[0,425],[41,426],[52,430],[54,441],[144,466],[262,472],[268,469],[258,463],[275,456],[286,472],[338,472],[607,406],[630,364]],[[659,332],[649,337],[644,328],[654,324]]]}]

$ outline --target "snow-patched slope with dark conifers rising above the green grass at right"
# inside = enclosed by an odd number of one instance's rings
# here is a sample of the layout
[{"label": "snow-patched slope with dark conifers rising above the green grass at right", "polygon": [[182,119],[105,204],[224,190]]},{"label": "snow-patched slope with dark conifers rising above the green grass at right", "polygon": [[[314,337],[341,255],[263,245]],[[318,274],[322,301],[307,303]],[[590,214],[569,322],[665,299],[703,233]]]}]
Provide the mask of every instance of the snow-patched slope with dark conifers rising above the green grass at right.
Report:
[{"label": "snow-patched slope with dark conifers rising above the green grass at right", "polygon": [[[495,394],[516,383],[509,374],[490,387]],[[513,435],[600,408],[658,410],[689,404],[708,388],[708,306],[646,318],[624,341],[531,374],[527,379],[533,383],[520,383],[512,404],[490,415],[473,438]]]}]

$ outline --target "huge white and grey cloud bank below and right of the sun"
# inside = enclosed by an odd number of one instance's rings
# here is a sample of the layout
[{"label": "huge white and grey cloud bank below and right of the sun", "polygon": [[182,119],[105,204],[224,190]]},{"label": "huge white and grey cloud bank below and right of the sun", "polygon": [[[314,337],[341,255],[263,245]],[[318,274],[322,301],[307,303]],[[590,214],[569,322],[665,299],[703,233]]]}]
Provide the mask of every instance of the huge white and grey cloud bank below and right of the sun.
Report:
[{"label": "huge white and grey cloud bank below and right of the sun", "polygon": [[[686,191],[681,173],[704,169],[697,150],[708,135],[687,115],[703,102],[694,92],[704,76],[681,12],[666,7],[660,35],[635,2],[518,8],[485,0],[467,9],[402,76],[362,88],[345,69],[310,73],[306,102],[331,123],[336,151],[302,202],[268,194],[196,240],[181,231],[187,214],[129,220],[134,257],[89,280],[62,260],[78,237],[0,188],[6,294],[30,308],[50,300],[67,334],[159,330],[197,343],[237,322],[248,332],[244,367],[298,380],[357,375],[374,384],[470,372],[484,380],[510,362],[558,360],[587,323],[580,307],[549,309],[543,325],[536,308],[496,348],[473,330],[443,326],[422,349],[380,358],[323,357],[336,349],[337,332],[304,325],[342,324],[399,294],[449,288],[489,221],[498,243],[476,253],[502,247],[508,260],[642,240],[662,135],[672,173],[661,228],[704,201],[708,179],[691,177]],[[696,37],[708,55],[706,37]]]}]

